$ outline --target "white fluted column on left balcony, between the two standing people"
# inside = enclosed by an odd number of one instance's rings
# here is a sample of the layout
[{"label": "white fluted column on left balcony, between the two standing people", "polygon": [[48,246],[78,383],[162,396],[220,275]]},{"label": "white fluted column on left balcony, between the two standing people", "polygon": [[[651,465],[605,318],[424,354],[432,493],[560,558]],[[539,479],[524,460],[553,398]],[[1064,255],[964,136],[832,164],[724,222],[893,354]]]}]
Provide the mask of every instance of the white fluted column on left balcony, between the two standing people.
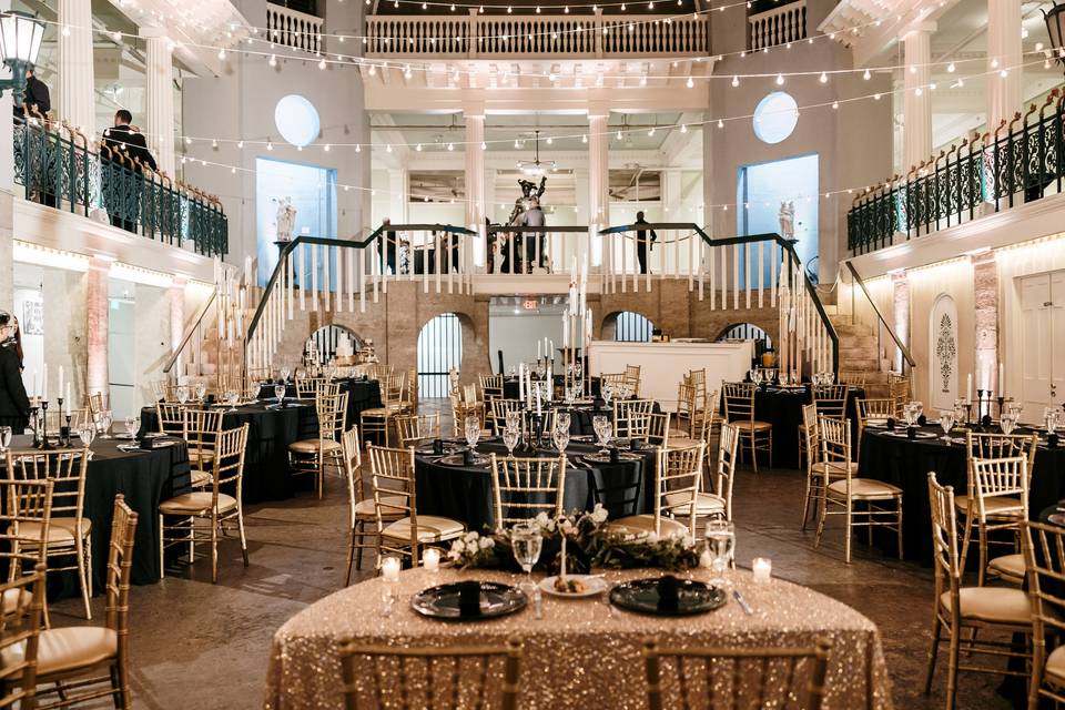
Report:
[{"label": "white fluted column on left balcony, between the two standing people", "polygon": [[[59,116],[89,136],[97,133],[92,68],[92,3],[59,0]],[[64,32],[64,30],[67,30]]]}]

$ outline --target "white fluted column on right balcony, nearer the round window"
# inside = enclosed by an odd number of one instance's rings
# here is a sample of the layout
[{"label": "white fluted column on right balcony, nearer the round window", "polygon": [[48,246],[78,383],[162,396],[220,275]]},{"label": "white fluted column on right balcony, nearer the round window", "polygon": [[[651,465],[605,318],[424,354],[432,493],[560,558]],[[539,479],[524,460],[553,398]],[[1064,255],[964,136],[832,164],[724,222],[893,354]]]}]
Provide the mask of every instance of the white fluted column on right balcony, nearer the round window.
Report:
[{"label": "white fluted column on right balcony, nearer the round window", "polygon": [[932,32],[935,24],[923,22],[903,38],[905,91],[902,99],[902,170],[909,172],[932,155],[932,95],[929,83],[932,72]]}]

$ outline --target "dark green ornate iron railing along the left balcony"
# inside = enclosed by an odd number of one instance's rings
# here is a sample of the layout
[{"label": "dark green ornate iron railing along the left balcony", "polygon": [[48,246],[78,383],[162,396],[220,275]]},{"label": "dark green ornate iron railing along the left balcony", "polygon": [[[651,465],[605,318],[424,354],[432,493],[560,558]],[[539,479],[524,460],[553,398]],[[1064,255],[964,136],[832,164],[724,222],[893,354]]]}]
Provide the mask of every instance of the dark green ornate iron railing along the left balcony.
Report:
[{"label": "dark green ornate iron railing along the left balcony", "polygon": [[213,196],[101,146],[65,124],[70,136],[37,120],[14,126],[14,182],[27,200],[111,223],[200,254],[225,254],[229,222]]}]

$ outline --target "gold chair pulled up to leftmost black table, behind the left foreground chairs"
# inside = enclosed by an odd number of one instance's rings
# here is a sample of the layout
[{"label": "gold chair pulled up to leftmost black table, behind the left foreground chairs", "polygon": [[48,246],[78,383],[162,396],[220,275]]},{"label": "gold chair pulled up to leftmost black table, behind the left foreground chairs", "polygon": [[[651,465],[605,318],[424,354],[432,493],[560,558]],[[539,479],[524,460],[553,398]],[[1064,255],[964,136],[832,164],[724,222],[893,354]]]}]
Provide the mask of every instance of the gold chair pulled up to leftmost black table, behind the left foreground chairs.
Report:
[{"label": "gold chair pulled up to leftmost black table, behind the left foreground chairs", "polygon": [[[49,574],[74,570],[81,587],[85,618],[92,619],[89,599],[92,597],[92,520],[84,517],[85,471],[89,468],[89,447],[53,452],[14,452],[8,458],[8,471],[21,480],[51,479],[51,520],[47,536],[40,524],[27,521],[19,526],[29,538],[47,540],[44,560],[71,558],[74,564],[49,566]],[[37,528],[37,529],[34,529]]]}]

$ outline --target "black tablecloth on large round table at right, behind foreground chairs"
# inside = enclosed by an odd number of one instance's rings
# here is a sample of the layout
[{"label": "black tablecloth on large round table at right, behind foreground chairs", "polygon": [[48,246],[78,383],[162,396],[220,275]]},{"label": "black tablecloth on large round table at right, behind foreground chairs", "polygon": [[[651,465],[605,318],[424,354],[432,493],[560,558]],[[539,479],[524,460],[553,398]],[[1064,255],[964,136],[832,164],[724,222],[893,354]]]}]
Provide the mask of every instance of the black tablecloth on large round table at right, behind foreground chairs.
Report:
[{"label": "black tablecloth on large round table at right, behind foreground chairs", "polygon": [[[936,436],[943,435],[939,426],[919,428]],[[862,433],[859,475],[902,488],[902,541],[907,559],[920,560],[924,565],[932,564],[929,471],[935,471],[935,479],[941,485],[954,486],[954,495],[961,496],[968,486],[965,469],[963,444],[946,444],[939,438],[893,437],[883,429],[868,427]],[[1039,446],[1035,453],[1032,488],[1028,491],[1030,516],[1037,516],[1041,510],[1062,498],[1065,498],[1065,447],[1052,449]],[[878,536],[876,544],[894,554],[894,532]]]}]

